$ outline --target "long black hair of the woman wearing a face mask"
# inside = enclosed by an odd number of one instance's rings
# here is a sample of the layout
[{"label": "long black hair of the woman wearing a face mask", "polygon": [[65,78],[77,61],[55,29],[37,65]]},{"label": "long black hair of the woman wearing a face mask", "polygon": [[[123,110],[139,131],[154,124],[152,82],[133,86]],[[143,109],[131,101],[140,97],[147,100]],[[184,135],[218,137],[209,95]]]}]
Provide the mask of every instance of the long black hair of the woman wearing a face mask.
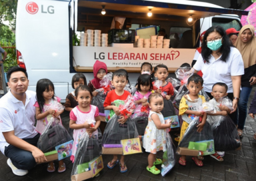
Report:
[{"label": "long black hair of the woman wearing a face mask", "polygon": [[229,41],[229,37],[227,37],[226,31],[221,26],[214,26],[207,29],[205,32],[205,36],[203,36],[203,43],[202,43],[202,52],[201,55],[203,60],[209,63],[209,59],[211,57],[211,49],[207,47],[207,37],[210,33],[217,32],[222,37],[222,46],[219,49],[218,53],[222,54],[221,61],[226,62],[229,58],[230,47],[233,47]]}]

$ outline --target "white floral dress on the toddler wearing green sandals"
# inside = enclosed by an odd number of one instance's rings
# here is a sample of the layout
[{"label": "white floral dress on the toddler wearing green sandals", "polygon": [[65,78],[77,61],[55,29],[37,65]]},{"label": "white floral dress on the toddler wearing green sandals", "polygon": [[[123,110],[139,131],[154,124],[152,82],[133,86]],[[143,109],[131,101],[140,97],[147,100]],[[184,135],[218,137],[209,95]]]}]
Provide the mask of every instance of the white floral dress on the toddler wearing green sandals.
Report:
[{"label": "white floral dress on the toddler wearing green sandals", "polygon": [[146,152],[156,154],[160,150],[163,150],[163,152],[166,150],[166,131],[165,129],[157,129],[155,123],[151,119],[152,114],[157,114],[162,124],[165,124],[165,120],[163,119],[163,115],[161,113],[153,112],[150,110],[149,123],[145,129],[143,138],[143,148],[145,148]]}]

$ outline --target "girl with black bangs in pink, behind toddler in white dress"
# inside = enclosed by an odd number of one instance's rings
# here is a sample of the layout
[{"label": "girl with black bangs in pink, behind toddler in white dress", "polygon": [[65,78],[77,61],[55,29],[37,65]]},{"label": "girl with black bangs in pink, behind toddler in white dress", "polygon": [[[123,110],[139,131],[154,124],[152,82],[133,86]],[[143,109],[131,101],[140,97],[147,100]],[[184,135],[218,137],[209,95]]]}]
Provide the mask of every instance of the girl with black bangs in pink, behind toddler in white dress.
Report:
[{"label": "girl with black bangs in pink, behind toddler in white dress", "polygon": [[[133,96],[133,100],[136,104],[147,107],[147,111],[149,111],[149,102],[147,102],[147,99],[149,98],[152,89],[153,84],[151,76],[147,74],[139,76],[138,87]],[[140,116],[139,112],[141,112],[141,106],[137,106],[138,109],[135,109],[134,116]]]}]

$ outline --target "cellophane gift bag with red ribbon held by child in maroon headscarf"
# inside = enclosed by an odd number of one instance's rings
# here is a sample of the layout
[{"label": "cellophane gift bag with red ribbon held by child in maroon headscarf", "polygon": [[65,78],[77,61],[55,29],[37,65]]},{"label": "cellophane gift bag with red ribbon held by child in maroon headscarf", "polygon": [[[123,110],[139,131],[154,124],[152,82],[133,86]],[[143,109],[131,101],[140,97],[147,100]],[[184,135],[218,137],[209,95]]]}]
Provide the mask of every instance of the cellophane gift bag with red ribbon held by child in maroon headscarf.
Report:
[{"label": "cellophane gift bag with red ribbon held by child in maroon headscarf", "polygon": [[95,91],[98,92],[97,96],[93,96],[93,100],[91,100],[91,104],[97,106],[99,108],[99,116],[101,116],[101,120],[105,121],[105,109],[104,109],[104,101],[107,96],[107,92],[112,89],[111,85],[112,73],[108,73],[103,77],[100,81],[101,89],[96,89]]}]

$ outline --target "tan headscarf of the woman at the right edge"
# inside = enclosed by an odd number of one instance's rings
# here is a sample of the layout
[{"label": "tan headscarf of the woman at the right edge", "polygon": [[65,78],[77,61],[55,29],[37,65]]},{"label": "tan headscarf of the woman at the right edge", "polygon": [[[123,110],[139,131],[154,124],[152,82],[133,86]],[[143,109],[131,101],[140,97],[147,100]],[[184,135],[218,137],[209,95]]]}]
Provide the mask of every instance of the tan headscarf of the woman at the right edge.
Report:
[{"label": "tan headscarf of the woman at the right edge", "polygon": [[[251,41],[243,43],[243,41],[241,41],[241,34],[246,29],[251,31],[253,37],[251,37]],[[254,31],[253,25],[244,25],[239,32],[237,41],[235,42],[235,47],[237,47],[243,57],[243,65],[245,65],[245,69],[255,65],[256,63],[256,38]]]}]

